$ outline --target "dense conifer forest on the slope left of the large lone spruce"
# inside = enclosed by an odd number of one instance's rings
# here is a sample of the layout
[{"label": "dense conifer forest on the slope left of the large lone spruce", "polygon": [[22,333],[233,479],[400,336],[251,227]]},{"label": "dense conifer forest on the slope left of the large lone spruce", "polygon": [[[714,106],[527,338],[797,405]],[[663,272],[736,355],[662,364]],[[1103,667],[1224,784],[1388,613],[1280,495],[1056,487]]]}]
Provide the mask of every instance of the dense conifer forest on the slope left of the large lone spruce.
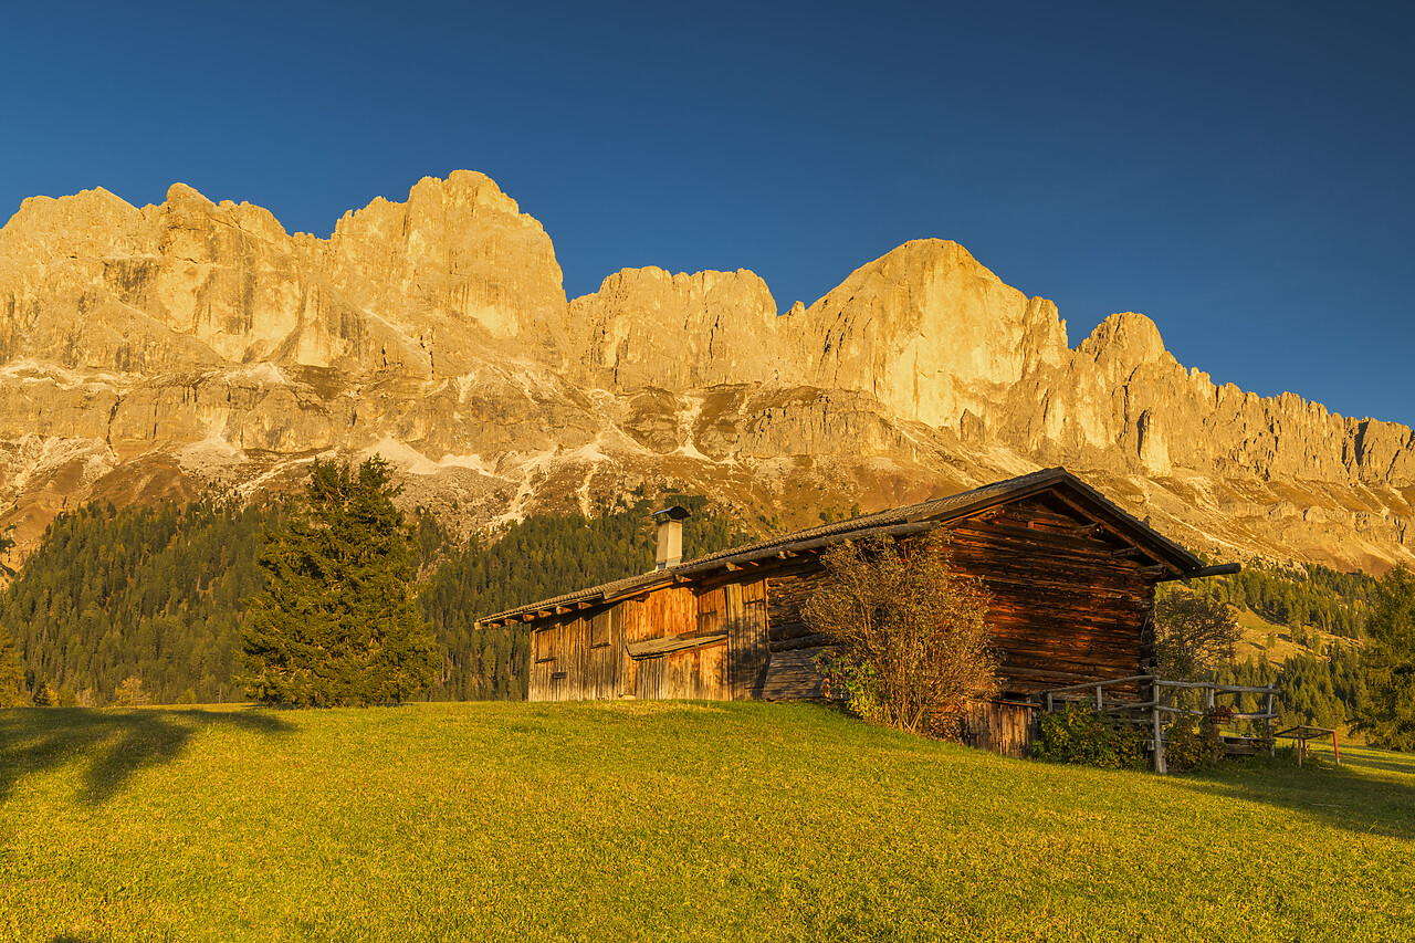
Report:
[{"label": "dense conifer forest on the slope left of the large lone spruce", "polygon": [[[47,682],[81,704],[110,704],[129,675],[158,704],[187,691],[207,704],[232,699],[242,600],[262,588],[260,534],[280,513],[209,497],[59,514],[0,593],[24,701]],[[0,677],[3,664],[0,644]]]}]

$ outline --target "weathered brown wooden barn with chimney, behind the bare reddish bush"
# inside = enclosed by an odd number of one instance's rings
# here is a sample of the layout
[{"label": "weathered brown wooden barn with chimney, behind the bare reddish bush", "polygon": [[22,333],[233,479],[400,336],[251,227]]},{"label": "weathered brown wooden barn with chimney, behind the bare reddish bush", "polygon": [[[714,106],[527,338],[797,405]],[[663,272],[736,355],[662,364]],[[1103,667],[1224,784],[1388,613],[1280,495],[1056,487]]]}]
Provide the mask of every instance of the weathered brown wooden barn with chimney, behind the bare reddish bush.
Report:
[{"label": "weathered brown wooden barn with chimney, behind the bare reddish bush", "polygon": [[691,561],[676,559],[681,515],[658,514],[659,569],[483,620],[532,630],[532,701],[819,697],[812,658],[825,639],[801,606],[824,575],[821,552],[942,527],[954,568],[992,595],[1002,656],[999,698],[975,711],[972,739],[1016,752],[1033,692],[1149,671],[1157,582],[1228,571],[1204,569],[1065,469]]}]

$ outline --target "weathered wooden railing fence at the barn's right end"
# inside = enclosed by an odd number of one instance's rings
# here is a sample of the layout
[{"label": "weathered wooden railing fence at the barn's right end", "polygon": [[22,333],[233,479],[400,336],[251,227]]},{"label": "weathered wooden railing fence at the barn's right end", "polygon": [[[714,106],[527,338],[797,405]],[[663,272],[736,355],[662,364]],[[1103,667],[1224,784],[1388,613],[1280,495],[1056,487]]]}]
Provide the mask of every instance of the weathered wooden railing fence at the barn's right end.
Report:
[{"label": "weathered wooden railing fence at the barn's right end", "polygon": [[[1179,692],[1180,691],[1203,691],[1204,708],[1193,709],[1179,707]],[[1109,692],[1109,698],[1107,697]],[[1132,694],[1133,692],[1133,694]],[[1217,698],[1220,695],[1240,695],[1240,694],[1254,694],[1264,695],[1264,709],[1259,712],[1240,712],[1230,711],[1230,721],[1262,721],[1266,728],[1266,736],[1262,742],[1266,745],[1268,755],[1274,753],[1274,732],[1272,721],[1276,719],[1276,697],[1278,687],[1275,684],[1266,684],[1262,687],[1244,687],[1235,684],[1214,684],[1210,681],[1163,681],[1153,674],[1135,674],[1128,678],[1108,678],[1105,681],[1091,681],[1087,684],[1073,684],[1064,688],[1051,688],[1050,691],[1043,691],[1036,695],[1041,708],[1047,712],[1054,711],[1057,702],[1075,702],[1087,695],[1094,695],[1095,709],[1104,711],[1107,714],[1119,714],[1126,716],[1135,724],[1145,724],[1150,731],[1150,750],[1155,759],[1155,772],[1167,773],[1169,769],[1165,765],[1165,728],[1173,722],[1173,718],[1186,714],[1189,716],[1204,716],[1217,707]],[[1124,695],[1131,695],[1133,699],[1125,699]],[[1251,736],[1224,736],[1224,749],[1227,753],[1257,753],[1258,739]]]}]

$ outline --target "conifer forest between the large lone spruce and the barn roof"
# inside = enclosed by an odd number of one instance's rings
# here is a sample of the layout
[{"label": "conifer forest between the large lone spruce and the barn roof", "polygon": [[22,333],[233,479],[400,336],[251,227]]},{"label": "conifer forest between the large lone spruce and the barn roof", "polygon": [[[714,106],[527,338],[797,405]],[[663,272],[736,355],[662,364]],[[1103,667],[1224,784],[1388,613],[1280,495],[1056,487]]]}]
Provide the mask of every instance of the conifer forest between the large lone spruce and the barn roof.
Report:
[{"label": "conifer forest between the large lone spruce and the barn roof", "polygon": [[477,537],[430,578],[417,603],[437,630],[441,681],[433,697],[518,701],[526,694],[529,636],[525,629],[477,629],[480,617],[599,586],[654,569],[658,528],[649,513],[681,504],[683,558],[702,556],[750,539],[708,498],[668,494],[607,508],[599,517],[546,514],[502,531],[495,542]]}]

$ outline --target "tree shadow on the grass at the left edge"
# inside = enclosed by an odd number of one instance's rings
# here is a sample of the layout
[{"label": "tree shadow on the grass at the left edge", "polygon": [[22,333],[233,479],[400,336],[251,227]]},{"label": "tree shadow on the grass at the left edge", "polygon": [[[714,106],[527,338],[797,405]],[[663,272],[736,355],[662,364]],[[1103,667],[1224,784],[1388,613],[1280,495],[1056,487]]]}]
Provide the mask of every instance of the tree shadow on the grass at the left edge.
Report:
[{"label": "tree shadow on the grass at the left edge", "polygon": [[192,735],[212,726],[286,733],[289,722],[263,711],[17,708],[0,711],[0,803],[27,775],[82,758],[79,799],[99,806],[136,773],[181,756]]}]

